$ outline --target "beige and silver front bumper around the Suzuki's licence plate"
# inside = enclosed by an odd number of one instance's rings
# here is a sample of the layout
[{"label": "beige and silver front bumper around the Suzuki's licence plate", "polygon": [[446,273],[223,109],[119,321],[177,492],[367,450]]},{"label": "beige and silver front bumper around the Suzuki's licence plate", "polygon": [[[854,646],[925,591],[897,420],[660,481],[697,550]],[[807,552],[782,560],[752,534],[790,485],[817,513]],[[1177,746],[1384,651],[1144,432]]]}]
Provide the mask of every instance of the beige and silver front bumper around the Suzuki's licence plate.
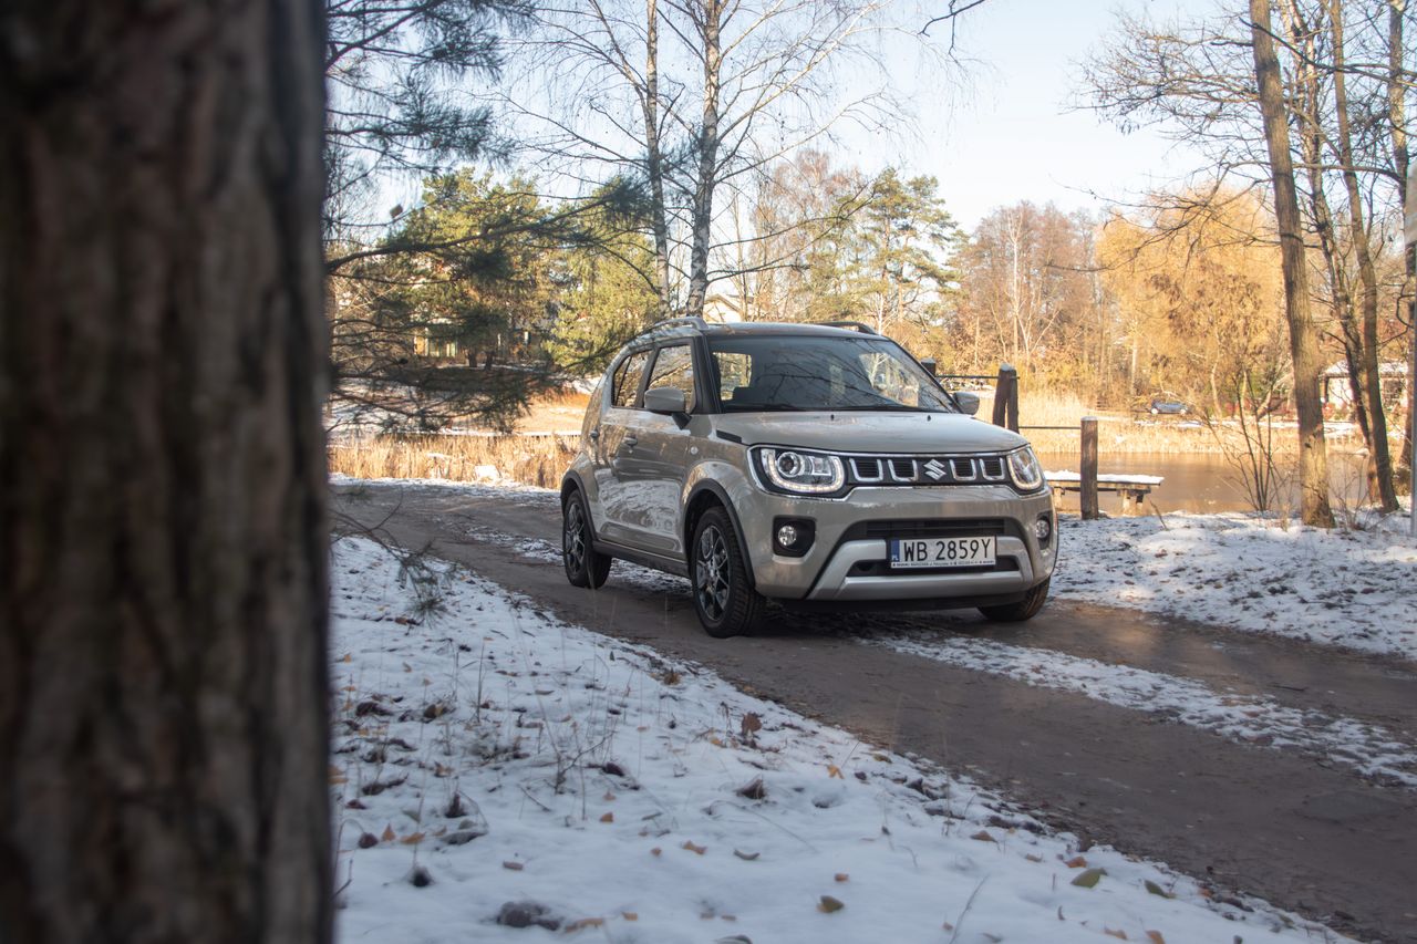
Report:
[{"label": "beige and silver front bumper around the Suzuki's licence plate", "polygon": [[[938,488],[857,488],[842,499],[769,495],[754,489],[740,507],[748,556],[760,594],[795,601],[896,602],[1023,594],[1053,574],[1057,532],[1040,546],[1039,516],[1053,522],[1049,489],[1019,495],[1007,485]],[[802,557],[772,550],[772,522],[812,519],[816,540]],[[989,568],[891,571],[891,537],[996,537]],[[962,604],[969,605],[969,604]]]}]

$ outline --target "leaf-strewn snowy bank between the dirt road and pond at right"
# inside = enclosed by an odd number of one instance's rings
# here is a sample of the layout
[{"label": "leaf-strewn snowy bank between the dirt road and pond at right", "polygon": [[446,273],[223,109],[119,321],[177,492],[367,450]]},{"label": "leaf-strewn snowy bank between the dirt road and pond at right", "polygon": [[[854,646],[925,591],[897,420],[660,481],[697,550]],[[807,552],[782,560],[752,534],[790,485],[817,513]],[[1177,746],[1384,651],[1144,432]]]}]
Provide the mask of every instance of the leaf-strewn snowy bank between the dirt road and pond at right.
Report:
[{"label": "leaf-strewn snowy bank between the dirt road and pond at right", "polygon": [[1406,515],[1304,527],[1247,513],[1061,516],[1053,592],[1319,645],[1417,659]]}]

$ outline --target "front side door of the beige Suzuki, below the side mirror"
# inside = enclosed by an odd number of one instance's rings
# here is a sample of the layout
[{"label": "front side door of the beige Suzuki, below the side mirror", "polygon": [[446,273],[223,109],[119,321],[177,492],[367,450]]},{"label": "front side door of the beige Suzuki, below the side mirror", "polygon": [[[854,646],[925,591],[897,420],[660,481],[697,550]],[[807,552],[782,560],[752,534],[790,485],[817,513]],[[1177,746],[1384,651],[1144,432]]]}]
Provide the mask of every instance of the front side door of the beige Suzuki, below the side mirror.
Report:
[{"label": "front side door of the beige Suzuki, below the side mirror", "polygon": [[[694,350],[689,340],[662,344],[649,370],[645,390],[672,387],[682,390],[687,411],[693,412]],[[618,452],[621,482],[625,488],[625,524],[638,547],[656,554],[683,554],[680,500],[689,475],[691,432],[674,418],[636,410],[626,424]]]}]

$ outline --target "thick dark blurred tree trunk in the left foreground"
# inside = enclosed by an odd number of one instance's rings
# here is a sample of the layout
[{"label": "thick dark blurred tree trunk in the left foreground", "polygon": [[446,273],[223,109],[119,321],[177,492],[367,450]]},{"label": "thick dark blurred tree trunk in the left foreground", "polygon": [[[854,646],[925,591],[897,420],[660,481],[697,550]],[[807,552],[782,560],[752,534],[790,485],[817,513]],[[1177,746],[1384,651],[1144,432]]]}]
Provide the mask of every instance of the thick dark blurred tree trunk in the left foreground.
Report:
[{"label": "thick dark blurred tree trunk in the left foreground", "polygon": [[0,938],[327,941],[320,4],[0,24]]}]

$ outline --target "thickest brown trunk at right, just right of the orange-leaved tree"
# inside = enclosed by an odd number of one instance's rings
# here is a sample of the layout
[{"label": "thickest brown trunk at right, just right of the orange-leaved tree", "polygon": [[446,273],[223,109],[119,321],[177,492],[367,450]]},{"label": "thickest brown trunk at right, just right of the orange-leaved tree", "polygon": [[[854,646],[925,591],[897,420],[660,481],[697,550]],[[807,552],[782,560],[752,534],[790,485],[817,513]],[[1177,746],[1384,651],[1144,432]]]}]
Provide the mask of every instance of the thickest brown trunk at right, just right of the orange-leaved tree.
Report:
[{"label": "thickest brown trunk at right, just right of the orange-leaved tree", "polygon": [[1319,400],[1318,342],[1309,313],[1309,285],[1304,259],[1304,231],[1289,156],[1289,128],[1274,52],[1270,0],[1250,0],[1254,74],[1258,85],[1264,137],[1274,180],[1274,211],[1280,225],[1280,254],[1284,265],[1285,316],[1289,323],[1289,354],[1294,359],[1294,401],[1299,414],[1299,513],[1305,524],[1332,527],[1328,496],[1328,454],[1323,444],[1323,404]]}]

